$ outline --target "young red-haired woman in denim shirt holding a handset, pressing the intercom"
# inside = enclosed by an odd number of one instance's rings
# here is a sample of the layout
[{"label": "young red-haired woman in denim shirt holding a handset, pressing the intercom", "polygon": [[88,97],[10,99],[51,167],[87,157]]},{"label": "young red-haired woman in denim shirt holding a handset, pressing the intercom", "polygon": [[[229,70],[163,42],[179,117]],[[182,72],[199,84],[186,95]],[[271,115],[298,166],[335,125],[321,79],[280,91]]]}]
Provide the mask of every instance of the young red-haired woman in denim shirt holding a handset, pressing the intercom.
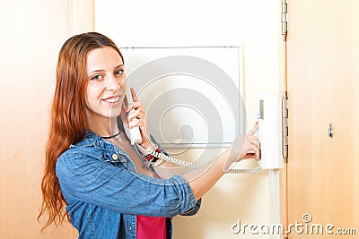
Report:
[{"label": "young red-haired woman in denim shirt holding a handset, pressing the intercom", "polygon": [[[143,105],[135,100],[123,107],[126,89],[124,59],[109,38],[89,32],[66,40],[41,184],[39,217],[48,213],[43,229],[67,218],[79,238],[171,238],[171,218],[196,214],[232,162],[259,159],[255,127],[211,164],[161,178],[156,168],[169,163],[144,150],[161,147],[147,131]],[[136,126],[142,143],[133,146],[127,133]]]}]

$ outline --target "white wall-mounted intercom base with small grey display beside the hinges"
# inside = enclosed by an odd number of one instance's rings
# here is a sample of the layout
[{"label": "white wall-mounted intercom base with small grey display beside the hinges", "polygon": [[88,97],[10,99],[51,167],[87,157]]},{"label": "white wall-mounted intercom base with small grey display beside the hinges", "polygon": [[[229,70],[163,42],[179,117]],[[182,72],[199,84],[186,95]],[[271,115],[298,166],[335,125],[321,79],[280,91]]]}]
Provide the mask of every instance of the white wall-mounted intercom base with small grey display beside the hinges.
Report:
[{"label": "white wall-mounted intercom base with small grey display beside the hinges", "polygon": [[261,94],[258,97],[258,138],[261,148],[262,169],[281,167],[281,97],[279,94]]}]

